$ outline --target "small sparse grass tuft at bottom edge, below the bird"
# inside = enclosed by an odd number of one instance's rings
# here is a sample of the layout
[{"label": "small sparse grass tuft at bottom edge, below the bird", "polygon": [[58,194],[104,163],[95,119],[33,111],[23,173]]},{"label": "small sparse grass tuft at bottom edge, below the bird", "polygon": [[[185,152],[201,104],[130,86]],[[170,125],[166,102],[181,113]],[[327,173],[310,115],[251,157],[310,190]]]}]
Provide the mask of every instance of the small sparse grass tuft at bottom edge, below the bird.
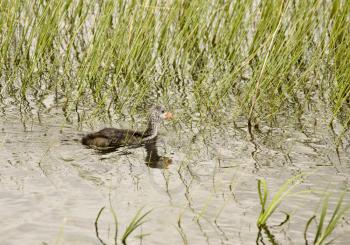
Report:
[{"label": "small sparse grass tuft at bottom edge, below the bird", "polygon": [[[102,207],[96,217],[95,220],[95,232],[96,232],[96,237],[97,239],[103,244],[106,245],[107,243],[105,241],[103,241],[103,239],[100,237],[99,235],[99,230],[98,230],[98,220],[103,212],[103,210],[105,209],[105,207]],[[114,244],[118,243],[118,220],[117,220],[117,215],[114,211],[114,209],[111,207],[111,212],[113,215],[113,220],[114,220],[114,224],[115,224],[115,234],[114,234]],[[126,227],[123,235],[120,238],[120,241],[123,244],[126,244],[126,240],[128,239],[128,237],[137,229],[139,228],[141,225],[143,225],[144,223],[146,223],[147,221],[145,220],[145,218],[147,217],[147,215],[149,215],[152,212],[152,210],[149,210],[147,212],[142,213],[142,208],[140,208],[135,216],[132,218],[132,220],[130,221],[130,223],[128,224],[128,226]]]}]

